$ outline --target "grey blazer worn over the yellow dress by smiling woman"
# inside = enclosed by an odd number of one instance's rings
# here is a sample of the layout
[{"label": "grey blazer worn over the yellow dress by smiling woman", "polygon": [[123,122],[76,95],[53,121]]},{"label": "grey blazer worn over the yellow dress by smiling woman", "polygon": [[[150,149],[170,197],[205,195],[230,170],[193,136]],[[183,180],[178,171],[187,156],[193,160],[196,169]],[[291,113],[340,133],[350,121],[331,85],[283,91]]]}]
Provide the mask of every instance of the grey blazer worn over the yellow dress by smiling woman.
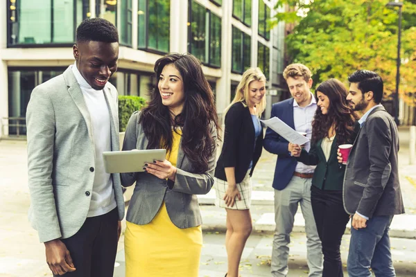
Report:
[{"label": "grey blazer worn over the yellow dress by smiling woman", "polygon": [[[148,139],[139,124],[139,116],[140,113],[135,111],[128,121],[123,150],[147,149]],[[211,135],[216,141],[214,124],[211,124]],[[131,186],[136,181],[127,211],[128,222],[148,224],[164,201],[171,221],[178,228],[184,229],[202,224],[196,195],[207,194],[214,184],[216,145],[214,147],[214,154],[209,157],[209,169],[205,173],[196,174],[192,173],[191,161],[184,155],[180,145],[177,153],[176,179],[171,188],[168,188],[168,181],[146,172],[121,173],[123,186]]]}]

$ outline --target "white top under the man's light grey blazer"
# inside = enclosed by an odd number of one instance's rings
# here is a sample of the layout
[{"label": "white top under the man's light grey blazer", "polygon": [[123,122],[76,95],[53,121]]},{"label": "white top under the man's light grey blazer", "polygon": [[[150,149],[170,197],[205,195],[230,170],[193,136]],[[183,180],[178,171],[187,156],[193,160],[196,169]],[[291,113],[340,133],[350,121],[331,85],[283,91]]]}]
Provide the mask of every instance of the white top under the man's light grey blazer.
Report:
[{"label": "white top under the man's light grey blazer", "polygon": [[94,184],[87,217],[94,217],[104,215],[117,206],[112,177],[105,172],[103,162],[103,152],[111,151],[110,111],[107,100],[105,100],[104,91],[93,89],[78,71],[76,64],[72,66],[72,71],[83,92],[89,117],[92,121],[95,166]]}]

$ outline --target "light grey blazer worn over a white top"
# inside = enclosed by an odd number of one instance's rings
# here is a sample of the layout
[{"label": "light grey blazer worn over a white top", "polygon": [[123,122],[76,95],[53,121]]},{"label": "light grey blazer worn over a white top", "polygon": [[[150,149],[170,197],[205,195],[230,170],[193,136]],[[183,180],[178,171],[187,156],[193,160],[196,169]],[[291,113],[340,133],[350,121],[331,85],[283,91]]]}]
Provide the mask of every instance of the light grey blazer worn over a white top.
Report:
[{"label": "light grey blazer worn over a white top", "polygon": [[[73,65],[71,65],[73,66]],[[89,211],[95,165],[92,122],[71,66],[33,89],[26,112],[29,220],[40,242],[69,238]],[[104,89],[111,111],[111,148],[119,150],[117,91]],[[112,175],[119,220],[124,201],[119,174]]]}]

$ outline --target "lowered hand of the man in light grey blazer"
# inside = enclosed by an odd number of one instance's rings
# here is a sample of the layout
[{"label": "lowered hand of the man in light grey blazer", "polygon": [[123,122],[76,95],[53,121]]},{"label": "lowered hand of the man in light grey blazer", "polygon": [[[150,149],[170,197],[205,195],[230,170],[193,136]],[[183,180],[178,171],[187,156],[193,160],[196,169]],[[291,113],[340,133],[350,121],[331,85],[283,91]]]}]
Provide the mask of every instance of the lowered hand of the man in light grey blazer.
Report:
[{"label": "lowered hand of the man in light grey blazer", "polygon": [[76,271],[71,255],[61,240],[51,240],[44,244],[46,248],[46,262],[53,274],[64,275],[67,272]]}]

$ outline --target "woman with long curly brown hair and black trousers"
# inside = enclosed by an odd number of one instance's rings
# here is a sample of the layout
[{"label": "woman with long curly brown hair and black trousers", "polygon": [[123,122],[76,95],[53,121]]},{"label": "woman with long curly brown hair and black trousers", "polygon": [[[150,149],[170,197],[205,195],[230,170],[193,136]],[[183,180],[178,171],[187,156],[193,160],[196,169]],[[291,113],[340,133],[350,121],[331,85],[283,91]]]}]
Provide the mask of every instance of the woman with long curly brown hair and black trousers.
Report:
[{"label": "woman with long curly brown hair and black trousers", "polygon": [[312,123],[311,150],[295,145],[292,156],[310,166],[317,165],[311,186],[313,216],[324,254],[323,277],[343,276],[340,244],[349,221],[343,205],[345,166],[337,159],[338,146],[354,143],[359,124],[347,103],[345,85],[329,79],[315,90],[318,102]]}]

